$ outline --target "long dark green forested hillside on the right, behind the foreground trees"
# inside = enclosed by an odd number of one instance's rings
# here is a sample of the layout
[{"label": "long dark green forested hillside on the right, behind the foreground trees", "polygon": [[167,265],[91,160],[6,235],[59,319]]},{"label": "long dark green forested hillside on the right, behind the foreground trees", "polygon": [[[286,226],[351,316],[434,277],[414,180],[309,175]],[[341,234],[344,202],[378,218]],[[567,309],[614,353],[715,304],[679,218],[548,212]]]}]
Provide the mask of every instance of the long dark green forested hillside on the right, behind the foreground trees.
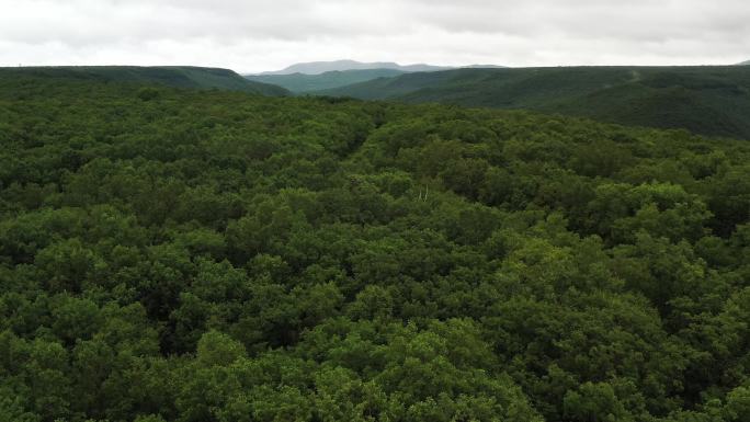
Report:
[{"label": "long dark green forested hillside on the right, behind the foreground trees", "polygon": [[320,92],[529,109],[750,139],[750,67],[560,67],[407,73]]}]

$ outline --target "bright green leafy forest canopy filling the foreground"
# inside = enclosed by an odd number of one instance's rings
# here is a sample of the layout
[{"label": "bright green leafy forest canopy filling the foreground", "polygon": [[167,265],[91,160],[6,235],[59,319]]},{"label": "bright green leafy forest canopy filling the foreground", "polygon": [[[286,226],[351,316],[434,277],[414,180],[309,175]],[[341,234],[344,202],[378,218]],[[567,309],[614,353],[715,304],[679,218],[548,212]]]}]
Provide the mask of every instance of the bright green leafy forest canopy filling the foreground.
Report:
[{"label": "bright green leafy forest canopy filling the foreground", "polygon": [[30,78],[0,421],[750,420],[747,141]]}]

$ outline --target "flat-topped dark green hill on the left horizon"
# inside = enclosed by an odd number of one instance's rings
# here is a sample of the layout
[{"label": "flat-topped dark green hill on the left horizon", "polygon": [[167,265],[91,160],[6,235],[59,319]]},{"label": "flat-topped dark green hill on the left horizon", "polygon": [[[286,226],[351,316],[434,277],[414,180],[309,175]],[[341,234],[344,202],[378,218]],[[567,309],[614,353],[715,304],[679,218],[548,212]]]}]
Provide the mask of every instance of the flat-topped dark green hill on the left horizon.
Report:
[{"label": "flat-topped dark green hill on the left horizon", "polygon": [[281,87],[250,81],[229,69],[193,66],[61,66],[0,68],[0,78],[53,77],[104,82],[157,83],[175,88],[221,89],[283,96]]}]

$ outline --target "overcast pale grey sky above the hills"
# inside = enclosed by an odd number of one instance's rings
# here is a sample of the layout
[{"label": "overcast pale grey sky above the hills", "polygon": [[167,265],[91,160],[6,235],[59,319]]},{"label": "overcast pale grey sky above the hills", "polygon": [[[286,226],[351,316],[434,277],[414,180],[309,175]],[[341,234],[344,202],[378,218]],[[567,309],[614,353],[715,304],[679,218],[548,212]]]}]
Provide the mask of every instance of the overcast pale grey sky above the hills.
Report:
[{"label": "overcast pale grey sky above the hills", "polygon": [[750,0],[0,0],[0,66],[720,65]]}]

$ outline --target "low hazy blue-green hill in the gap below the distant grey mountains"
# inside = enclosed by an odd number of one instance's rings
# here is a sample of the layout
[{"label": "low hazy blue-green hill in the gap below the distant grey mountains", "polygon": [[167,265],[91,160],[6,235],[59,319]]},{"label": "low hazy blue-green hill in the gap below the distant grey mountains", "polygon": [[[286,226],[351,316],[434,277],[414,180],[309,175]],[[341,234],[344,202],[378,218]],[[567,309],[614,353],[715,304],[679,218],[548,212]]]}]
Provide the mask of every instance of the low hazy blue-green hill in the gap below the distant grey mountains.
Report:
[{"label": "low hazy blue-green hill in the gap below the distant grey mountains", "polygon": [[361,69],[333,70],[319,75],[248,75],[246,78],[255,82],[283,87],[295,93],[305,93],[366,82],[377,78],[396,77],[402,73],[404,71],[397,69]]}]

